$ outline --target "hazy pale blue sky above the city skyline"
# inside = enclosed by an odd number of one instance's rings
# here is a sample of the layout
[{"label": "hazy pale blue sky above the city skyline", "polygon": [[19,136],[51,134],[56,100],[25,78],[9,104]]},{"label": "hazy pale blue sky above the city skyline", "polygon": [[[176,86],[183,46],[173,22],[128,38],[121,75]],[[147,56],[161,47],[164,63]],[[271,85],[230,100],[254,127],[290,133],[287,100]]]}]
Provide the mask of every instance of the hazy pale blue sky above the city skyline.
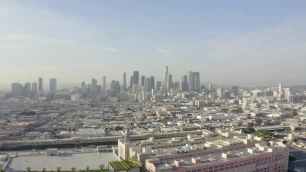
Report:
[{"label": "hazy pale blue sky above the city skyline", "polygon": [[0,90],[11,82],[306,84],[306,1],[0,1]]}]

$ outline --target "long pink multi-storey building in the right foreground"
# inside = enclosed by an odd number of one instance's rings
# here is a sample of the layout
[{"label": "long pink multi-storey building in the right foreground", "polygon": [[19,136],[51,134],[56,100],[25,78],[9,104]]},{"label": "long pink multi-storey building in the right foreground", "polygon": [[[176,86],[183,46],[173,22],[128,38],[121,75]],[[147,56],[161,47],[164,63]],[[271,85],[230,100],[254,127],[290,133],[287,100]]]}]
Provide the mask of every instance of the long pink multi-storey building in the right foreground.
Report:
[{"label": "long pink multi-storey building in the right foreground", "polygon": [[146,159],[146,172],[287,171],[289,148],[262,146],[179,159]]}]

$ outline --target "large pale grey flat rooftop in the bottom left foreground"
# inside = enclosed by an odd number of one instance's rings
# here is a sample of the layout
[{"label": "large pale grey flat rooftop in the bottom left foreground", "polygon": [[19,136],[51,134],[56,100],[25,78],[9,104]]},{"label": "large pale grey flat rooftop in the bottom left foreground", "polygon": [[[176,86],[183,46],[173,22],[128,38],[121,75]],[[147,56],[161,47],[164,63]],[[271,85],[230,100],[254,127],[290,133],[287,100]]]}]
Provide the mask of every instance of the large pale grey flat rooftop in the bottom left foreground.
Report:
[{"label": "large pale grey flat rooftop in the bottom left foreground", "polygon": [[85,170],[86,166],[90,169],[99,169],[100,164],[108,166],[108,161],[120,160],[112,152],[79,152],[79,153],[59,153],[57,156],[46,156],[45,154],[32,155],[16,155],[11,157],[7,163],[9,171],[26,171],[28,166],[31,171],[41,171],[46,168],[46,171],[56,171],[59,166],[62,171],[71,170],[75,167],[76,170]]}]

